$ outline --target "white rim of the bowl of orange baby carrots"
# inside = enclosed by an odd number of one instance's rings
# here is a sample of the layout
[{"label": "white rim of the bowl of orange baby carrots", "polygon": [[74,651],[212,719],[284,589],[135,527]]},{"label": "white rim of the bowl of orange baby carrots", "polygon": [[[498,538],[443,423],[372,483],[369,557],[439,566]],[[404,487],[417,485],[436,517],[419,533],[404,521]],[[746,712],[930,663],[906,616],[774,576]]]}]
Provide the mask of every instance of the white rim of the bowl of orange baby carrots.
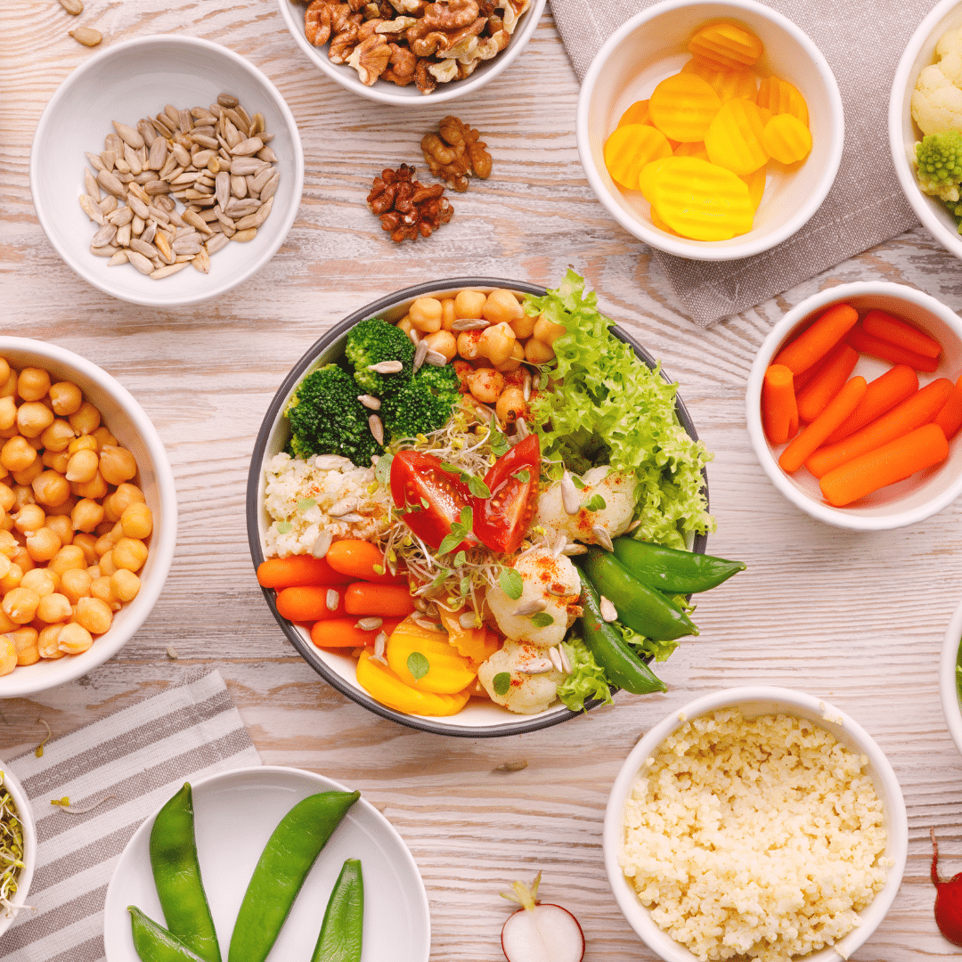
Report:
[{"label": "white rim of the bowl of orange baby carrots", "polygon": [[804,317],[828,307],[831,304],[847,300],[849,297],[864,297],[869,295],[889,295],[899,300],[918,304],[931,314],[938,316],[954,331],[955,336],[962,340],[962,317],[955,314],[941,301],[931,294],[910,288],[904,284],[894,284],[891,281],[853,281],[850,284],[839,284],[832,288],[812,294],[800,301],[791,311],[781,318],[773,327],[768,337],[762,342],[755,354],[748,373],[747,391],[745,394],[746,420],[748,436],[769,480],[789,501],[806,515],[837,528],[847,528],[850,531],[889,531],[893,528],[906,527],[916,524],[947,508],[960,494],[962,494],[962,474],[949,485],[949,488],[937,497],[931,498],[916,508],[901,511],[889,516],[861,516],[846,512],[844,508],[833,508],[822,504],[806,494],[799,492],[789,480],[785,472],[778,467],[772,458],[765,430],[762,427],[761,396],[762,382],[765,369],[769,366],[785,335]]}]

